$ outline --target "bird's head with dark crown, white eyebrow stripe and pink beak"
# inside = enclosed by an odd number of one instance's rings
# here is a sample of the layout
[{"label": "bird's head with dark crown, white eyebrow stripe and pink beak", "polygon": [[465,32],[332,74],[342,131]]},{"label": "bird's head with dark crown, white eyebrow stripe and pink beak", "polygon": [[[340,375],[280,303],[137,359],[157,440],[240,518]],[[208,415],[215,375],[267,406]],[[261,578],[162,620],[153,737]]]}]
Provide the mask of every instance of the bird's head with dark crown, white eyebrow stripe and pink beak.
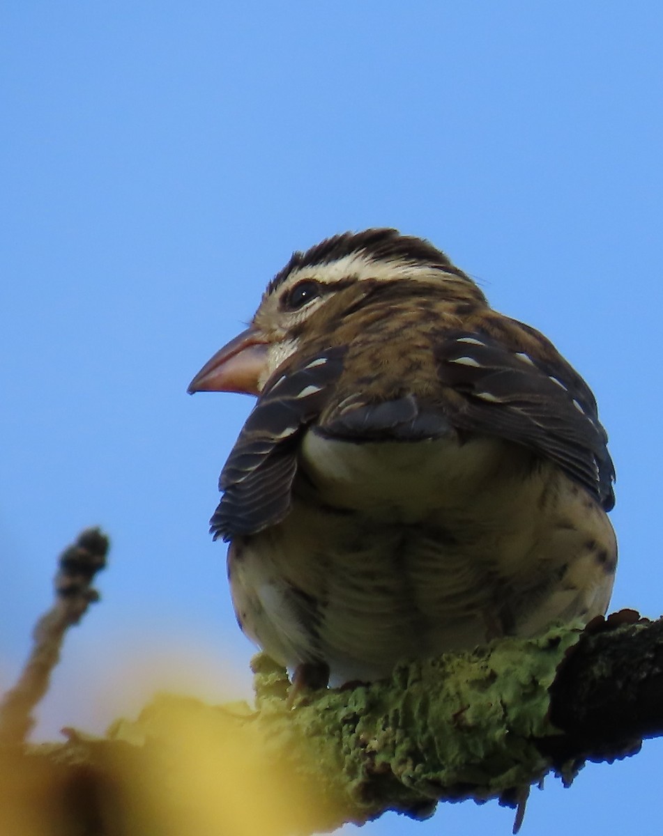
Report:
[{"label": "bird's head with dark crown, white eyebrow stripe and pink beak", "polygon": [[188,391],[258,395],[265,382],[311,338],[334,331],[362,300],[398,283],[413,297],[422,284],[457,301],[486,304],[469,276],[423,238],[367,229],[326,238],[293,253],[270,281],[249,328],[219,349]]}]

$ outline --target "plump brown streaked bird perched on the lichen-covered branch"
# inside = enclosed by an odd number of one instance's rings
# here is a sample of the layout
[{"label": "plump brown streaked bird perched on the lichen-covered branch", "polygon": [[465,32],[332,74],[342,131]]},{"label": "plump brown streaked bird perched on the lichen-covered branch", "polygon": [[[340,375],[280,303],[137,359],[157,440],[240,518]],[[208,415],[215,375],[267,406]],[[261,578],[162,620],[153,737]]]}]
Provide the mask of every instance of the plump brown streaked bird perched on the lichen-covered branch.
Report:
[{"label": "plump brown streaked bird perched on the lichen-covered branch", "polygon": [[372,228],[294,252],[188,391],[257,396],[211,533],[240,628],[296,690],[605,613],[594,395],[428,240]]}]

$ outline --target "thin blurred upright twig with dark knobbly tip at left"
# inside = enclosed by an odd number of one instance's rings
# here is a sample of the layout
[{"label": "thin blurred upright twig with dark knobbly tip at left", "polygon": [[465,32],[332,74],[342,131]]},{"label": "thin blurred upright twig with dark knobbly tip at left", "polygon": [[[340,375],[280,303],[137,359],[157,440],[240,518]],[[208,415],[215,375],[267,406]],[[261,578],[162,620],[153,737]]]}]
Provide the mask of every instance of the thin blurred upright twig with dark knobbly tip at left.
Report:
[{"label": "thin blurred upright twig with dark knobbly tip at left", "polygon": [[92,589],[95,574],[105,567],[108,538],[88,528],[59,557],[55,575],[55,601],[33,630],[33,649],[18,682],[0,701],[0,743],[25,740],[34,725],[33,710],[49,687],[59,662],[64,634],[78,624],[90,604],[99,600]]}]

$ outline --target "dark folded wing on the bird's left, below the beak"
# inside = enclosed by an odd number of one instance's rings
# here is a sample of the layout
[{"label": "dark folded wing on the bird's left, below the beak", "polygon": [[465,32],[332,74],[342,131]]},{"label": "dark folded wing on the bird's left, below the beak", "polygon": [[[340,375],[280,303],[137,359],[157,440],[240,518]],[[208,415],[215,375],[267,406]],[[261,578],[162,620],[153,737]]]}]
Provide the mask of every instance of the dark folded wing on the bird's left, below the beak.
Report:
[{"label": "dark folded wing on the bird's left, below the beak", "polygon": [[224,496],[210,520],[214,539],[257,533],[285,517],[297,442],[341,375],[343,354],[327,349],[267,381],[219,477]]}]

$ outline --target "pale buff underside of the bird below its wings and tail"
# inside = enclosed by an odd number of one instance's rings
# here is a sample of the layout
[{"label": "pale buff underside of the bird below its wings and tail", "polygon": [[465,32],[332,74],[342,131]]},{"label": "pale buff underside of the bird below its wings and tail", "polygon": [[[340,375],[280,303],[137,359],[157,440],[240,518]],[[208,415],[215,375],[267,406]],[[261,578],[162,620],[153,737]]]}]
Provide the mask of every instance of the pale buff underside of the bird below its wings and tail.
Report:
[{"label": "pale buff underside of the bird below its wings and tail", "polygon": [[342,682],[588,621],[608,605],[615,563],[604,511],[522,447],[310,433],[292,510],[234,540],[229,578],[250,638]]}]

